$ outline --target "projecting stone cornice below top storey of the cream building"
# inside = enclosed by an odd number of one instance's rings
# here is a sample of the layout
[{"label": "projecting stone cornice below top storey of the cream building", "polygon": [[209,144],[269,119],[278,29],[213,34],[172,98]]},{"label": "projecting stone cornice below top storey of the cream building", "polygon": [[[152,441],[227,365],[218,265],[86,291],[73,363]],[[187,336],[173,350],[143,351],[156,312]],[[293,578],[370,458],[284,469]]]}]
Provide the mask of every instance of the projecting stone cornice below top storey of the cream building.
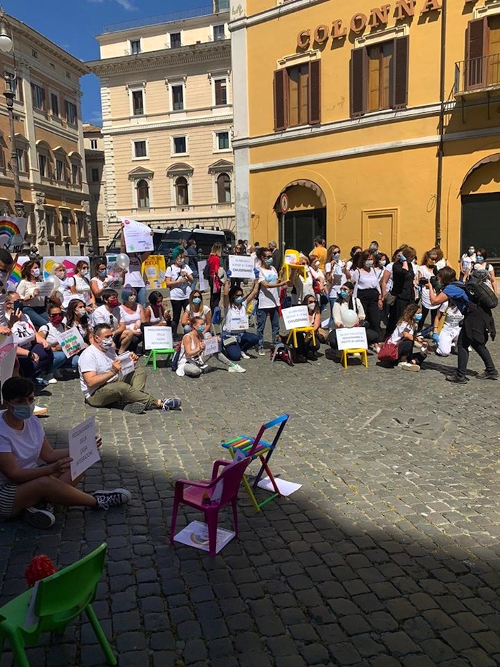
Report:
[{"label": "projecting stone cornice below top storey of the cream building", "polygon": [[134,56],[118,56],[85,63],[97,76],[128,72],[142,72],[168,66],[182,66],[199,62],[227,59],[231,61],[231,41],[190,44],[178,49],[161,49]]}]

